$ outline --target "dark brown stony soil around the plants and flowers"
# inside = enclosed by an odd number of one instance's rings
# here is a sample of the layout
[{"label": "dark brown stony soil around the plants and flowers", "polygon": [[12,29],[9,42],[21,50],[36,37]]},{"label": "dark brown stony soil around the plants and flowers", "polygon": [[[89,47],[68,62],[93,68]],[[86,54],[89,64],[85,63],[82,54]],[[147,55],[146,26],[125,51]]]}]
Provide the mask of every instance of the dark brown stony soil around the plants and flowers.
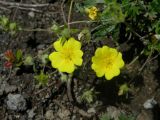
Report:
[{"label": "dark brown stony soil around the plants and flowers", "polygon": [[[134,64],[122,70],[119,77],[111,81],[104,78],[97,78],[91,70],[90,61],[86,62],[85,69],[74,76],[73,94],[74,102],[71,103],[67,96],[67,86],[60,82],[60,75],[55,69],[47,68],[48,72],[55,72],[50,78],[48,87],[37,87],[34,72],[30,66],[22,66],[19,70],[5,69],[3,53],[6,50],[21,49],[23,54],[36,56],[40,50],[46,49],[56,39],[54,33],[48,31],[33,31],[33,29],[49,28],[54,21],[63,25],[63,15],[61,11],[62,0],[6,0],[7,3],[20,4],[45,4],[42,7],[24,7],[12,4],[2,4],[0,2],[0,16],[6,15],[12,21],[16,21],[26,31],[20,31],[16,36],[0,31],[0,120],[98,120],[98,116],[106,112],[109,108],[115,111],[121,110],[127,114],[134,114],[137,120],[160,120],[160,57],[148,62],[144,69],[139,69],[147,59],[140,57]],[[47,4],[47,5],[46,5]],[[64,13],[67,15],[69,4],[64,3]],[[85,16],[74,12],[71,20],[83,20]],[[78,24],[75,28],[92,27],[92,25]],[[29,31],[30,30],[30,31]],[[91,43],[82,46],[85,51],[84,61],[94,54],[93,46],[107,44],[114,46],[112,42],[102,42],[101,44]],[[139,43],[137,43],[139,44]],[[126,63],[130,63],[138,55],[142,47],[137,46],[133,41],[121,44],[120,50]],[[127,48],[128,49],[124,49]],[[137,54],[134,50],[137,49]],[[87,73],[87,74],[86,74]],[[133,87],[127,96],[118,96],[118,86],[122,83],[130,83]],[[95,86],[98,92],[97,99],[92,104],[80,103],[79,96],[81,90]],[[20,110],[8,108],[8,99],[12,95],[21,95],[25,99],[25,107]],[[143,104],[154,99],[157,104],[151,109],[145,109]],[[75,102],[76,101],[76,102]],[[81,111],[82,110],[82,111]],[[90,117],[90,114],[93,114]]]}]

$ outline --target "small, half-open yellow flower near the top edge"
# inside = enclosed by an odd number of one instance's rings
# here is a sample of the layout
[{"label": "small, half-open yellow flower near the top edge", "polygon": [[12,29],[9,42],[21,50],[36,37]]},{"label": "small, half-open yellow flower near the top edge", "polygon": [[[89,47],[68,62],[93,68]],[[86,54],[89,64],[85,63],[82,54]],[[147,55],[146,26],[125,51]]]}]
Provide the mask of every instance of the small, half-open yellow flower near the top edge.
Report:
[{"label": "small, half-open yellow flower near the top edge", "polygon": [[98,9],[95,6],[86,8],[86,12],[91,20],[95,20],[97,18]]}]

